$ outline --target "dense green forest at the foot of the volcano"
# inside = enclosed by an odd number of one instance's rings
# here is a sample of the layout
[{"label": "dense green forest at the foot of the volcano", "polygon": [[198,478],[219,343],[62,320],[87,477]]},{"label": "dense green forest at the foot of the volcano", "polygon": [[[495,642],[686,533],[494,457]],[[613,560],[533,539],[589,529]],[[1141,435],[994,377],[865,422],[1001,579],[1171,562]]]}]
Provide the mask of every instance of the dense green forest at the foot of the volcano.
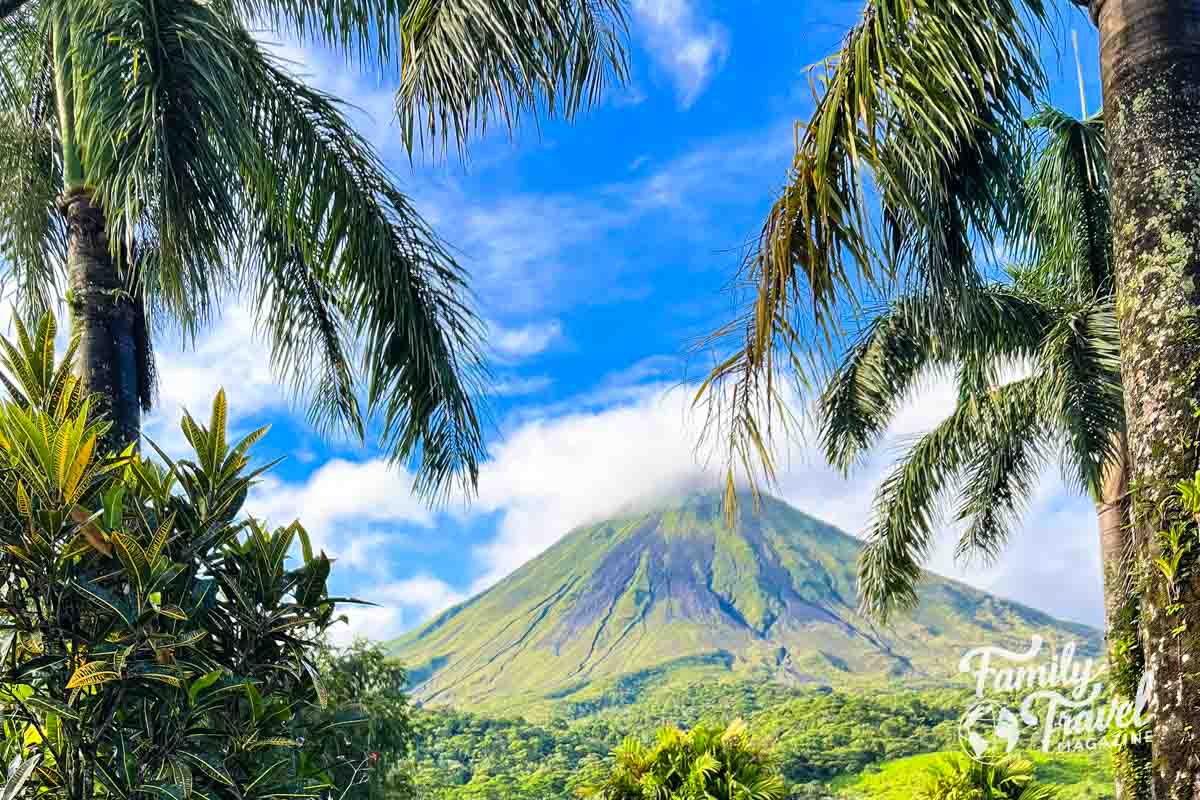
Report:
[{"label": "dense green forest at the foot of the volcano", "polygon": [[770,744],[788,784],[815,792],[890,759],[956,746],[967,704],[955,690],[827,692],[745,681],[692,684],[545,724],[424,710],[414,720],[412,771],[419,796],[431,800],[568,798],[604,781],[610,751],[630,733],[650,745],[665,724],[724,728],[743,717]]}]

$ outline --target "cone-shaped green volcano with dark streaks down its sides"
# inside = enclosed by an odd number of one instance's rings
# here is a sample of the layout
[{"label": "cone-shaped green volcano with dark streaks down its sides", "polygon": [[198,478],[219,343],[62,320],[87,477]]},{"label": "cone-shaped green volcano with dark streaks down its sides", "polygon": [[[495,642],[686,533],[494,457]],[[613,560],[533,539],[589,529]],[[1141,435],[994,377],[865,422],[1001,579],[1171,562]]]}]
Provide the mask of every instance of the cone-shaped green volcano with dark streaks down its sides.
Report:
[{"label": "cone-shaped green volcano with dark streaks down its sides", "polygon": [[733,529],[696,494],[580,528],[398,639],[418,700],[493,710],[622,702],[671,681],[946,679],[979,644],[1040,633],[1099,652],[1092,628],[930,576],[881,630],[857,612],[859,542],[774,499]]}]

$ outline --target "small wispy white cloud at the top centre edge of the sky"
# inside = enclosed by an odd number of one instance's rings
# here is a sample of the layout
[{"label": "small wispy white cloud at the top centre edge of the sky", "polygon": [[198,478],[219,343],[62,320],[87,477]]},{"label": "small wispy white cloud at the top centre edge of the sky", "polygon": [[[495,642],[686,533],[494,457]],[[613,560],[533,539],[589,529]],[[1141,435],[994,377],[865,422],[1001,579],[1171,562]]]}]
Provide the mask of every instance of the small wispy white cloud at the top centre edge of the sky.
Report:
[{"label": "small wispy white cloud at the top centre edge of the sky", "polygon": [[690,107],[725,64],[728,31],[702,18],[691,0],[634,0],[632,5],[642,41],[671,76],[679,104]]}]

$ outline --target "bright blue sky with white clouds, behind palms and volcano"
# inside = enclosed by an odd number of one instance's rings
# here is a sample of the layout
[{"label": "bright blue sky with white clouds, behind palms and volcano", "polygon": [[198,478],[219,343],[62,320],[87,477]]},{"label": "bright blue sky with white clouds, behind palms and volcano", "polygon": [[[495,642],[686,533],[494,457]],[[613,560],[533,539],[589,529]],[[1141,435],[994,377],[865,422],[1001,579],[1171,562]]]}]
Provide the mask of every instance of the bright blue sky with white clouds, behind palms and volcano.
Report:
[{"label": "bright blue sky with white clouds, behind palms and volcano", "polygon": [[[1099,89],[1093,31],[1067,7],[1046,52],[1055,100],[1074,110],[1072,26],[1093,104]],[[724,287],[786,175],[792,125],[811,106],[804,67],[835,49],[858,11],[857,1],[634,0],[628,86],[574,125],[546,122],[512,138],[491,132],[466,162],[437,154],[410,162],[390,125],[386,82],[264,34],[296,72],[354,107],[361,131],[469,271],[490,323],[491,459],[473,504],[422,506],[410,476],[378,451],[305,425],[236,302],[197,348],[162,349],[162,402],[148,432],[178,449],[179,409],[204,411],[221,385],[236,427],[272,425],[258,455],[287,461],[251,509],[276,523],[299,517],[338,558],[337,593],[380,604],[354,612],[343,639],[395,636],[571,527],[709,479],[686,402],[704,361],[685,357],[688,347],[727,320]],[[931,381],[898,420],[893,445],[949,403],[947,387]],[[844,481],[796,443],[778,493],[859,533],[893,452],[883,449]],[[1050,474],[1001,564],[954,565],[946,547],[934,566],[1099,622],[1094,540],[1088,504]]]}]

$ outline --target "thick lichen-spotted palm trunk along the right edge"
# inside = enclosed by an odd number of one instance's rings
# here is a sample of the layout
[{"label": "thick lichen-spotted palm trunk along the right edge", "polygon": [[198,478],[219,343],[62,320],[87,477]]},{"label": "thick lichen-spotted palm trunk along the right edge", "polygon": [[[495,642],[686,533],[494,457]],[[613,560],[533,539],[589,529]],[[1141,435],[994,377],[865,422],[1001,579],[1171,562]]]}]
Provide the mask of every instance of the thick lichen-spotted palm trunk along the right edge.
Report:
[{"label": "thick lichen-spotted palm trunk along the right edge", "polygon": [[[1200,367],[1200,0],[1092,0],[1111,162],[1122,380],[1142,645],[1153,672],[1154,798],[1200,798],[1200,582],[1148,566],[1196,469]],[[1192,534],[1189,534],[1190,536]],[[1192,557],[1194,558],[1194,555]]]}]

